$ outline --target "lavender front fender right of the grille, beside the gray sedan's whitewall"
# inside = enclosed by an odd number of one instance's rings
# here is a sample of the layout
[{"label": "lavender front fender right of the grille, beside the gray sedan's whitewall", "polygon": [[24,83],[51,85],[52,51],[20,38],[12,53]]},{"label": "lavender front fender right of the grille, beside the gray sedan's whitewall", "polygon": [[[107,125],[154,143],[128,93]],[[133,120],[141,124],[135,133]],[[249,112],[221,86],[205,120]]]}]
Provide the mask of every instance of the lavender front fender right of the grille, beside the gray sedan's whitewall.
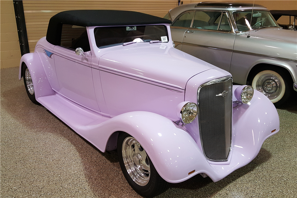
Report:
[{"label": "lavender front fender right of the grille, beside the gray sedan's whitewall", "polygon": [[[238,85],[233,85],[233,92]],[[233,94],[234,95],[234,94]],[[252,100],[233,108],[232,140],[236,150],[254,159],[268,137],[279,131],[279,115],[274,104],[254,90]]]}]

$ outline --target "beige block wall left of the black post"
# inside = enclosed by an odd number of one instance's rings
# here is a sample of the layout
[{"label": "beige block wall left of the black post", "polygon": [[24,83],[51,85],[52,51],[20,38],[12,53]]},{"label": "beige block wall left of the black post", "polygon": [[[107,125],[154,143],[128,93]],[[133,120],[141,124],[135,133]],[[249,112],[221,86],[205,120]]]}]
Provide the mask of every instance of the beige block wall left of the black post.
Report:
[{"label": "beige block wall left of the black post", "polygon": [[0,1],[0,68],[20,64],[20,42],[15,21],[13,1]]}]

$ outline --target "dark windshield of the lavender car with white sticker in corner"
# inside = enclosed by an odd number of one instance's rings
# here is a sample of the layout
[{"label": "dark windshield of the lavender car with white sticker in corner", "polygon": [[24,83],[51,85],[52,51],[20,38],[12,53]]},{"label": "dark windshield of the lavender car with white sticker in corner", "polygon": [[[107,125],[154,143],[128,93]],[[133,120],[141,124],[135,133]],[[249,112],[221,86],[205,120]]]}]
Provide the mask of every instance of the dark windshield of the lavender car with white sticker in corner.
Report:
[{"label": "dark windshield of the lavender car with white sticker in corner", "polygon": [[94,35],[99,48],[122,45],[135,39],[138,42],[168,42],[169,38],[163,25],[98,27],[94,29]]}]

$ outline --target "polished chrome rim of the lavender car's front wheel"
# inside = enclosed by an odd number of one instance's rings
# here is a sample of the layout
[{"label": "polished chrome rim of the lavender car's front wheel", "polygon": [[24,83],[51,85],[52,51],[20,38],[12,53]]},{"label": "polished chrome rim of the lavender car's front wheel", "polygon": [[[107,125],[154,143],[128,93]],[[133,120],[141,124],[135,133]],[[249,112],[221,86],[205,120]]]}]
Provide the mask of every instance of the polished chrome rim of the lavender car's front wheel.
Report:
[{"label": "polished chrome rim of the lavender car's front wheel", "polygon": [[124,165],[131,179],[139,186],[149,183],[151,169],[146,151],[133,137],[126,137],[122,144]]}]

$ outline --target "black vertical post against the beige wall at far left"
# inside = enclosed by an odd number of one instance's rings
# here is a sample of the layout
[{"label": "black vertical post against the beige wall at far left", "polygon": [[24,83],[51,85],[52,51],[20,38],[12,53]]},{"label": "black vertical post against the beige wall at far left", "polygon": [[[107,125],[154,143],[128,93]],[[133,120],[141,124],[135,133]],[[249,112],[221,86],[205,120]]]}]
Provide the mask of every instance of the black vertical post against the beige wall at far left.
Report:
[{"label": "black vertical post against the beige wall at far left", "polygon": [[17,22],[18,36],[20,41],[20,52],[22,56],[26,53],[29,53],[29,42],[25,22],[25,14],[23,1],[13,1],[13,7],[15,9],[15,20]]}]

